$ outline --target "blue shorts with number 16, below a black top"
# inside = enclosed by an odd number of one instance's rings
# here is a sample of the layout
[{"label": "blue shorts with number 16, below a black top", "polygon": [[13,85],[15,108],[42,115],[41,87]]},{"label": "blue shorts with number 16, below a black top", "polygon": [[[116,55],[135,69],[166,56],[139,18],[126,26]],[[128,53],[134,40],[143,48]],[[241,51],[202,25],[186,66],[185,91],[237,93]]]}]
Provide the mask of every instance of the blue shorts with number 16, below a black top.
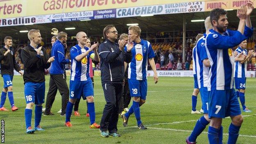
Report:
[{"label": "blue shorts with number 16, below a black top", "polygon": [[44,103],[45,82],[26,82],[24,86],[26,103],[39,105]]}]

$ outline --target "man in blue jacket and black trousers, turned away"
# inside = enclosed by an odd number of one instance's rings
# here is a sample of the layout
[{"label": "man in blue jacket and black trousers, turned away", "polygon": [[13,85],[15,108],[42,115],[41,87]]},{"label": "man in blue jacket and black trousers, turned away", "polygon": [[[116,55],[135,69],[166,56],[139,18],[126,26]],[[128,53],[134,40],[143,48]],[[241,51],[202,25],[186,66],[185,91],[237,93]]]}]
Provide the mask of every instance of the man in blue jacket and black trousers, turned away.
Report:
[{"label": "man in blue jacket and black trousers, turned away", "polygon": [[64,52],[64,43],[66,43],[67,40],[66,32],[59,32],[57,39],[58,40],[53,43],[53,48],[51,50],[51,55],[54,56],[56,60],[50,68],[50,82],[46,97],[46,110],[44,116],[53,115],[53,113],[50,112],[50,109],[53,106],[57,89],[59,89],[59,93],[62,96],[62,112],[60,116],[65,116],[66,105],[69,101],[69,87],[66,83],[65,73],[65,64],[69,64],[69,59],[65,59]]}]

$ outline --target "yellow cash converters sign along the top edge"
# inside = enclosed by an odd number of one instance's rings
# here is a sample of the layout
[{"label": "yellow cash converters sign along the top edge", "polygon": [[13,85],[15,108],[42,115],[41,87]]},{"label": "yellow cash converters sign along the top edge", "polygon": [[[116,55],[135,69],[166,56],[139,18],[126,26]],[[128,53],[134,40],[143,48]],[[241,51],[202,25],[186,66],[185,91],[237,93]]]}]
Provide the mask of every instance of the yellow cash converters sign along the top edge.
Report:
[{"label": "yellow cash converters sign along the top edge", "polygon": [[140,7],[207,0],[0,0],[0,18]]}]

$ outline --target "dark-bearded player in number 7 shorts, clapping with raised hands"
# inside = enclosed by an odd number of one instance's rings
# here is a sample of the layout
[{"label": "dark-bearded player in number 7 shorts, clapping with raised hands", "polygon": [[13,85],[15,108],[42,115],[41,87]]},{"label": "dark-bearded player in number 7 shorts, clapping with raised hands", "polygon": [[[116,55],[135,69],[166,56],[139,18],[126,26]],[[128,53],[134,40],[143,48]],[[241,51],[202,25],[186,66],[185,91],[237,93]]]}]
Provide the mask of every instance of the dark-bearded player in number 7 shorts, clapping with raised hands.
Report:
[{"label": "dark-bearded player in number 7 shorts, clapping with raised hands", "polygon": [[[205,41],[211,65],[208,74],[208,115],[210,118],[208,139],[210,144],[219,142],[218,134],[222,119],[228,116],[232,121],[229,126],[228,144],[235,144],[238,139],[243,117],[233,89],[234,62],[229,57],[228,49],[251,37],[253,29],[251,28],[250,14],[253,8],[251,3],[247,3],[247,6],[242,5],[237,11],[237,16],[240,19],[237,31],[227,30],[229,22],[224,9],[213,9],[210,12],[213,30],[210,30]],[[224,35],[226,30],[228,35]]]}]

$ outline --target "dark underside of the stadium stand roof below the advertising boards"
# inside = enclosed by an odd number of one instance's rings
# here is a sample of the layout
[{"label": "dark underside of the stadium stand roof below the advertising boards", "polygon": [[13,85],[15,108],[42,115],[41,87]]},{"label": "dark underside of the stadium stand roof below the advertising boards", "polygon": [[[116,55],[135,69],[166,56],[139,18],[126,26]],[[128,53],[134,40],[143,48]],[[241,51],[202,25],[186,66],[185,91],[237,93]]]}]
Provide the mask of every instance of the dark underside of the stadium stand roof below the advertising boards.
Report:
[{"label": "dark underside of the stadium stand roof below the advertising boards", "polygon": [[[204,31],[203,22],[191,22],[191,20],[205,19],[210,12],[197,12],[186,14],[165,14],[148,17],[128,17],[128,18],[113,18],[100,19],[91,21],[72,21],[61,23],[45,23],[34,25],[19,25],[0,27],[1,41],[5,36],[11,36],[14,39],[27,39],[27,33],[21,33],[20,30],[39,29],[43,38],[52,37],[50,34],[53,27],[59,31],[67,32],[69,36],[75,36],[79,31],[85,31],[87,35],[102,35],[103,28],[106,25],[114,24],[119,31],[119,34],[128,32],[127,23],[138,23],[142,32],[162,32],[162,31],[181,31],[183,29],[183,16],[186,17],[186,30],[202,30]],[[236,17],[236,10],[228,11],[229,28],[237,28],[239,19]],[[252,25],[256,26],[256,11],[251,14]],[[66,27],[75,27],[75,30],[65,30]]]}]

